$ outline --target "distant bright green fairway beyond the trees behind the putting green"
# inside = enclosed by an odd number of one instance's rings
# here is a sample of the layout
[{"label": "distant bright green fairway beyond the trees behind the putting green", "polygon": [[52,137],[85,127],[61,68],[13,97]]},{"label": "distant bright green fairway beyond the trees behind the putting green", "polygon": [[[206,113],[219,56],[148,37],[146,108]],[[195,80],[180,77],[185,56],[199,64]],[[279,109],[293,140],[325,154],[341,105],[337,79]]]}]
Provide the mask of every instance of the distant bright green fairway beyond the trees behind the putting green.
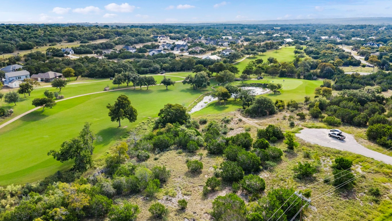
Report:
[{"label": "distant bright green fairway beyond the trees behind the putting green", "polygon": [[253,57],[252,55],[251,57],[247,57],[245,58],[245,60],[238,62],[237,64],[235,64],[235,66],[237,66],[237,68],[240,70],[241,73],[250,61],[260,59],[260,58],[262,58],[264,61],[267,61],[267,58],[269,57],[274,57],[279,62],[292,61],[295,58],[294,49],[295,49],[294,46],[289,46],[289,47],[282,47],[281,49],[278,49],[278,51],[276,52],[275,50],[267,51],[266,53],[264,53],[264,55],[256,55],[256,57]]}]

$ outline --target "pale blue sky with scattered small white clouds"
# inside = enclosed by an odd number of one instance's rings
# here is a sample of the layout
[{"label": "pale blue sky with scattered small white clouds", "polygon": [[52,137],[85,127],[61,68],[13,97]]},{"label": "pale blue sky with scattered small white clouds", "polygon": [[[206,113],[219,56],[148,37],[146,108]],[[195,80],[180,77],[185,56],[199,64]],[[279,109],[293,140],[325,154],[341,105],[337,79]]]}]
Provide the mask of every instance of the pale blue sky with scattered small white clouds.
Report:
[{"label": "pale blue sky with scattered small white clouds", "polygon": [[392,16],[392,0],[12,0],[2,1],[0,8],[0,22],[40,23],[177,23]]}]

